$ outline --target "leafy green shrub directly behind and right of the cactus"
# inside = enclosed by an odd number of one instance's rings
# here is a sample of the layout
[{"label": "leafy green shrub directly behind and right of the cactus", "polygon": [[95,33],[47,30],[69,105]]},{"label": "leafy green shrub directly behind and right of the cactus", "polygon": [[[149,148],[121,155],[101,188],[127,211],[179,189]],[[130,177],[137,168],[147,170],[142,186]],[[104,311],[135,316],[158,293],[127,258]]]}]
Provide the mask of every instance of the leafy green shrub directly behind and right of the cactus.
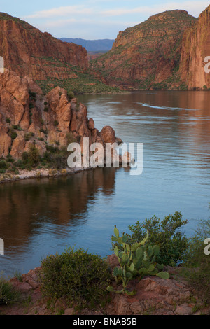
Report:
[{"label": "leafy green shrub directly behind and right of the cactus", "polygon": [[[157,262],[175,266],[184,260],[188,249],[188,239],[181,231],[182,226],[187,223],[187,220],[182,220],[182,215],[178,211],[174,215],[166,216],[162,221],[156,216],[146,218],[142,223],[137,221],[129,226],[132,235],[128,235],[128,243],[133,244],[143,240],[148,231],[148,244],[160,246]],[[113,248],[115,246],[116,244],[113,244]]]}]

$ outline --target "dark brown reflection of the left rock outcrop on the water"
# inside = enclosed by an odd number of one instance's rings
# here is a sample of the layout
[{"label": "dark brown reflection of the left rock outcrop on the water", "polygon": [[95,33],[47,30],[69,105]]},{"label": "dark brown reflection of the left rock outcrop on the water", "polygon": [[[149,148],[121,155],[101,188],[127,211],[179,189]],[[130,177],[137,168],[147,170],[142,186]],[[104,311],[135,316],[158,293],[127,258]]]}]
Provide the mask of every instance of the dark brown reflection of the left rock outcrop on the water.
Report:
[{"label": "dark brown reflection of the left rock outcrop on the water", "polygon": [[22,244],[39,223],[83,225],[88,203],[94,202],[95,195],[99,191],[106,197],[113,195],[116,170],[96,169],[65,178],[1,185],[0,232],[5,245]]}]

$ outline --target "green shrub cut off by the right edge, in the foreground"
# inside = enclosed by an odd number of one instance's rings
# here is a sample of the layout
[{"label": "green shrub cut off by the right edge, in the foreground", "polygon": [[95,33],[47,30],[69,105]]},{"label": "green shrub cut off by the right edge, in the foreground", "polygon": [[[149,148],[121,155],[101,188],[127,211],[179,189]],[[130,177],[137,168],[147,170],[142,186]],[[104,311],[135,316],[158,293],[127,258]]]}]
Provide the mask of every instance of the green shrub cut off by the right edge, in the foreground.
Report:
[{"label": "green shrub cut off by the right edge, in the foreground", "polygon": [[210,255],[205,255],[205,239],[210,238],[210,220],[200,221],[195,235],[190,238],[186,254],[184,274],[190,285],[200,294],[204,302],[210,302]]}]

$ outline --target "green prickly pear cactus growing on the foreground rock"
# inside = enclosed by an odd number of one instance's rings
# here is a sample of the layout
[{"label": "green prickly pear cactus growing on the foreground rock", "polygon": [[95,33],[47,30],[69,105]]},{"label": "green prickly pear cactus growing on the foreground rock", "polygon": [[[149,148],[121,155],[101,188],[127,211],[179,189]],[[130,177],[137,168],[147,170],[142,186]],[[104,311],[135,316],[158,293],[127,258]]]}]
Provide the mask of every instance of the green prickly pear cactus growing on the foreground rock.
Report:
[{"label": "green prickly pear cactus growing on the foreground rock", "polygon": [[146,275],[156,275],[162,279],[169,279],[169,273],[159,272],[163,269],[163,265],[156,264],[155,259],[160,252],[160,247],[148,246],[148,232],[143,241],[135,242],[130,246],[127,244],[127,235],[123,233],[123,236],[120,237],[119,230],[115,226],[111,240],[118,242],[119,247],[114,248],[114,253],[120,263],[120,267],[113,269],[113,276],[117,283],[123,283],[123,289],[114,290],[113,287],[109,286],[107,290],[134,295],[135,291],[129,292],[126,287],[127,283],[135,276],[139,276],[141,279]]}]

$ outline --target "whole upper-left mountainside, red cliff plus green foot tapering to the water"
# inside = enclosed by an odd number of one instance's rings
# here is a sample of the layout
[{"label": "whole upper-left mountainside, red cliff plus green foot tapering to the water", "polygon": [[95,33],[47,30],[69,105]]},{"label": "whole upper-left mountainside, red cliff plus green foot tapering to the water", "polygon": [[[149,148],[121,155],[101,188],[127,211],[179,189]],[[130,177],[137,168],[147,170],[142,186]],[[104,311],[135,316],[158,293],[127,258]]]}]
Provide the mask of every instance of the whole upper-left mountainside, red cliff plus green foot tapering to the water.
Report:
[{"label": "whole upper-left mountainside, red cliff plus green foot tapering to the water", "polygon": [[5,13],[0,13],[0,49],[6,69],[32,78],[46,93],[57,85],[76,94],[118,91],[90,76],[81,45],[62,42]]}]

